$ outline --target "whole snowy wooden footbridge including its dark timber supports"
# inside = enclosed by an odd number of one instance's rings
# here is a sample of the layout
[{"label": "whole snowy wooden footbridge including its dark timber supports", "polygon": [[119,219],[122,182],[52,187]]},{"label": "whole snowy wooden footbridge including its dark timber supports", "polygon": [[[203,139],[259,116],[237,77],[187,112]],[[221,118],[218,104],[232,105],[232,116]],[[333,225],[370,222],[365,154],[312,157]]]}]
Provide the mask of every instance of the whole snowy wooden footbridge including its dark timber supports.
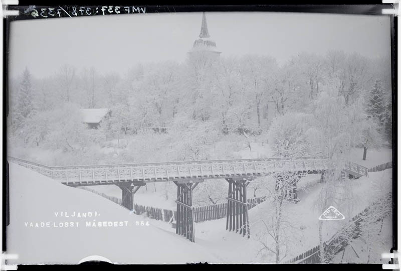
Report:
[{"label": "whole snowy wooden footbridge including its dark timber supports", "polygon": [[[8,161],[50,177],[62,184],[78,187],[117,185],[122,190],[122,205],[134,209],[134,194],[151,182],[174,182],[177,186],[176,233],[194,241],[192,191],[204,180],[225,179],[229,183],[227,229],[249,237],[247,186],[258,176],[291,172],[300,179],[305,174],[324,174],[329,160],[324,157],[296,159],[266,158],[239,160],[207,160],[188,162],[45,166],[8,157]],[[355,163],[344,165],[344,172],[353,178],[368,176],[368,169]],[[278,180],[280,182],[280,180]],[[296,198],[296,182],[291,196]]]}]

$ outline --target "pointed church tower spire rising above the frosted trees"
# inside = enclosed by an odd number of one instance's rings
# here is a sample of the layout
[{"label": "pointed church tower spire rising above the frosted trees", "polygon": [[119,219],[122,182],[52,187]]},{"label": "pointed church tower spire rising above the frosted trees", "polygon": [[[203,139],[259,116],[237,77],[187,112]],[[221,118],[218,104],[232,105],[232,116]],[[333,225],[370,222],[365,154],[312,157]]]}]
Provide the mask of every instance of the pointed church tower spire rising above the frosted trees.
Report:
[{"label": "pointed church tower spire rising above the frosted trees", "polygon": [[221,52],[216,48],[216,42],[210,39],[208,23],[205,12],[202,17],[199,39],[195,40],[192,49],[188,52],[189,58],[205,57],[211,59],[219,58]]}]

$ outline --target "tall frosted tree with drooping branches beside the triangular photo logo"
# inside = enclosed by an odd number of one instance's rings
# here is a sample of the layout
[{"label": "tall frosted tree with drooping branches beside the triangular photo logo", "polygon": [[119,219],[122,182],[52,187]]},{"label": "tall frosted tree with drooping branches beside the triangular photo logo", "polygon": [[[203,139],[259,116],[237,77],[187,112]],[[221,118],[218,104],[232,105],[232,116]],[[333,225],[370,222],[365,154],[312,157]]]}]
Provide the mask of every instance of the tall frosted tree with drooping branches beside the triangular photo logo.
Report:
[{"label": "tall frosted tree with drooping branches beside the triangular photo logo", "polygon": [[[351,148],[360,144],[364,128],[363,103],[361,100],[346,104],[343,95],[338,95],[338,85],[332,81],[325,86],[315,101],[313,127],[307,131],[315,152],[327,157],[329,168],[324,174],[324,185],[317,201],[317,208],[323,213],[330,205],[350,211],[354,197],[350,194],[349,182],[342,181],[342,171],[348,162]],[[323,221],[319,221],[319,243],[321,262],[325,262]]]}]

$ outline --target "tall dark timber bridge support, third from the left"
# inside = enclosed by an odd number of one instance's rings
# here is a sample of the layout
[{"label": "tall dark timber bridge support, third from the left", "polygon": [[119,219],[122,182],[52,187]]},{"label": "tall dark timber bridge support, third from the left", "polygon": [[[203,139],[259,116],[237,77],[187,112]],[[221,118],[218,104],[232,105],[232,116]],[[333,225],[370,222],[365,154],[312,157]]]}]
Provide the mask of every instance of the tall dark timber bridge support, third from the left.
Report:
[{"label": "tall dark timber bridge support, third from the left", "polygon": [[247,186],[248,180],[226,179],[229,183],[227,196],[226,229],[250,238]]}]

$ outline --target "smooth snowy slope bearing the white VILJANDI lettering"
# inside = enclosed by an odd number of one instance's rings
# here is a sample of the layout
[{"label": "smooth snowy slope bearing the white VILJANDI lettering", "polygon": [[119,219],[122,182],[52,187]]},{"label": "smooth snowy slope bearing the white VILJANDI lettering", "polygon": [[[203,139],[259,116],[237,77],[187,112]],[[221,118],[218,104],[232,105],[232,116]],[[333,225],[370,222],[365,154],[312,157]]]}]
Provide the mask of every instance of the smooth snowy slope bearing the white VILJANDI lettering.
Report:
[{"label": "smooth snowy slope bearing the white VILJANDI lettering", "polygon": [[[98,216],[73,218],[74,211],[76,215],[97,212]],[[61,212],[70,217],[61,217]],[[86,221],[128,221],[128,226],[86,227]],[[149,226],[141,226],[140,221],[147,220],[99,195],[10,164],[7,251],[19,255],[10,263],[78,263],[90,255],[118,263],[220,261],[198,244],[156,227],[153,220],[149,220]],[[34,227],[29,226],[30,222]],[[36,222],[39,227],[35,227]],[[50,227],[40,227],[40,222],[50,222]],[[79,226],[53,227],[53,222],[78,222]]]}]

